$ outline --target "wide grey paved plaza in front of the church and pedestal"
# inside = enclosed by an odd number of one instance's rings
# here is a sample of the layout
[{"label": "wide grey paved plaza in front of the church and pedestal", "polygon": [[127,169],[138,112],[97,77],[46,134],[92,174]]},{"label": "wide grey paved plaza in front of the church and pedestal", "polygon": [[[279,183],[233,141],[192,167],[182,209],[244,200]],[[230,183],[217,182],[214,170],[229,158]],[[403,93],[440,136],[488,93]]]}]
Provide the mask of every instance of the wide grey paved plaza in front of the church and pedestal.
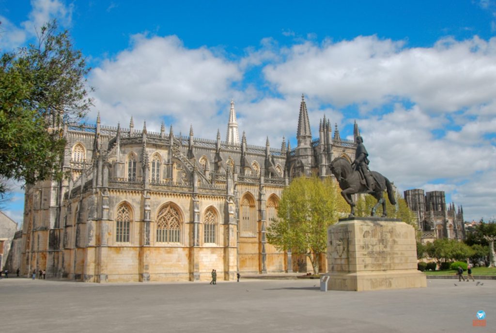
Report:
[{"label": "wide grey paved plaza in front of the church and pedestal", "polygon": [[[94,284],[0,280],[2,332],[495,332],[496,280],[319,290],[319,280]],[[455,285],[456,284],[456,285]],[[473,327],[484,310],[486,327]]]}]

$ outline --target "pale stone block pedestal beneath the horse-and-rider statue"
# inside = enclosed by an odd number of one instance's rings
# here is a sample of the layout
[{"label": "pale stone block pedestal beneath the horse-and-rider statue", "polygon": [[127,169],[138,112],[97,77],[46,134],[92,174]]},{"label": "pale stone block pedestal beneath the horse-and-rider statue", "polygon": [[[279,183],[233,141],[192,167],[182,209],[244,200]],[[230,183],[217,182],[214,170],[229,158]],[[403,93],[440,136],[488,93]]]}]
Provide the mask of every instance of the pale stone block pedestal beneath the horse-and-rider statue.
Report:
[{"label": "pale stone block pedestal beneath the horse-and-rider statue", "polygon": [[417,270],[415,229],[396,219],[340,219],[327,229],[329,290],[426,287]]}]

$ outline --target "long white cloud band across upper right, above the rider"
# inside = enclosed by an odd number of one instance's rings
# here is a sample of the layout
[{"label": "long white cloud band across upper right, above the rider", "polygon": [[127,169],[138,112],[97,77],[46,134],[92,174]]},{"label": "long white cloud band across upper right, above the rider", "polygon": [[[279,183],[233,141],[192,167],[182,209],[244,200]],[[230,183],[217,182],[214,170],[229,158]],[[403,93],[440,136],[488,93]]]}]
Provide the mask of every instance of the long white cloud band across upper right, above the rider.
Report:
[{"label": "long white cloud band across upper right, above the rider", "polygon": [[305,42],[264,73],[282,93],[311,91],[336,106],[376,107],[399,97],[431,111],[452,112],[494,97],[496,38],[447,38],[432,48],[410,49],[376,36]]}]

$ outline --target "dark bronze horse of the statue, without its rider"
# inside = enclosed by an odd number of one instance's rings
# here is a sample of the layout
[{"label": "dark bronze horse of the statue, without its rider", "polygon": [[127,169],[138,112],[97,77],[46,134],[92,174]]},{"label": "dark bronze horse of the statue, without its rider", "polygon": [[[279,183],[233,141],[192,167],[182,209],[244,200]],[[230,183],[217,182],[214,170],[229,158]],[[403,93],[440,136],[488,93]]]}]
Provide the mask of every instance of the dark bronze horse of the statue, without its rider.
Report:
[{"label": "dark bronze horse of the statue, without its rider", "polygon": [[344,157],[335,158],[330,164],[331,172],[339,183],[339,187],[341,188],[341,195],[344,200],[348,202],[351,208],[351,212],[349,217],[355,216],[355,203],[353,202],[352,195],[357,193],[367,193],[371,194],[375,199],[377,199],[377,203],[372,207],[371,215],[375,215],[375,211],[379,204],[382,203],[382,217],[387,216],[386,212],[386,200],[382,197],[384,190],[387,190],[387,197],[389,198],[389,202],[391,204],[396,204],[396,200],[394,199],[393,188],[391,186],[391,182],[382,176],[380,173],[371,171],[372,177],[374,179],[374,183],[372,185],[372,193],[367,188],[364,181],[362,181],[362,177],[359,171],[354,170],[351,163]]}]

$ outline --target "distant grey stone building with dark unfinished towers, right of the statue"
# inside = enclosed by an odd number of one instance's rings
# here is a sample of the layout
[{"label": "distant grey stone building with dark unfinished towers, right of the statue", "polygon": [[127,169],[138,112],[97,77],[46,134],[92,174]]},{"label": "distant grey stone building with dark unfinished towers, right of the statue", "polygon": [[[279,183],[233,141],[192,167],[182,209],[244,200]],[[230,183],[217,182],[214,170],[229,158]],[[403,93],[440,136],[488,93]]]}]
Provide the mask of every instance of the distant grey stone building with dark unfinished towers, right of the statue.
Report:
[{"label": "distant grey stone building with dark unfinished towers, right of the statue", "polygon": [[435,239],[465,239],[463,208],[456,209],[454,203],[446,207],[443,191],[424,193],[413,189],[404,193],[408,207],[416,214],[419,230],[422,231],[422,243]]}]

